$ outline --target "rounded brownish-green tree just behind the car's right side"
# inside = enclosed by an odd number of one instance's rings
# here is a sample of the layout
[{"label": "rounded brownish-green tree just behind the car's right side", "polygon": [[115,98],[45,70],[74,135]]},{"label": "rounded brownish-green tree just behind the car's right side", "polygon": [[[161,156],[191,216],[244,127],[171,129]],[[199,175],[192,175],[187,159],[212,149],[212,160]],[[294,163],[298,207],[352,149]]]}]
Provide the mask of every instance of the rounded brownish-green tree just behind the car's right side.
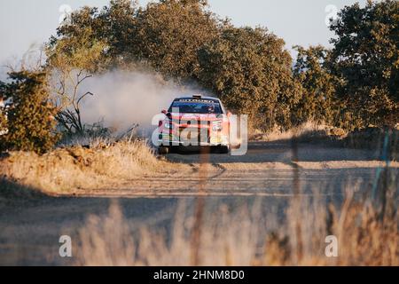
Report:
[{"label": "rounded brownish-green tree just behind the car's right side", "polygon": [[301,87],[293,81],[284,41],[265,28],[226,25],[199,51],[200,82],[229,108],[249,114],[254,128],[291,126],[290,108]]}]

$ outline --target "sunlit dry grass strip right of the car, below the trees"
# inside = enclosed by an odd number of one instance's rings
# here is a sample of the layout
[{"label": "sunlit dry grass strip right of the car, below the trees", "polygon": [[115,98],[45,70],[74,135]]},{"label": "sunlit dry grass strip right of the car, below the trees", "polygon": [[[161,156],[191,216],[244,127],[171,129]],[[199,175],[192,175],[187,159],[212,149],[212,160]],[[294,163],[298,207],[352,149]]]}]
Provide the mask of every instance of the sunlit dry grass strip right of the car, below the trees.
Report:
[{"label": "sunlit dry grass strip right of the car, below the trees", "polygon": [[261,141],[277,141],[277,140],[291,140],[293,138],[301,141],[311,141],[320,138],[344,138],[348,133],[345,130],[334,128],[329,125],[317,122],[306,122],[291,130],[274,129],[268,133],[262,131],[254,131],[251,135],[251,140]]}]

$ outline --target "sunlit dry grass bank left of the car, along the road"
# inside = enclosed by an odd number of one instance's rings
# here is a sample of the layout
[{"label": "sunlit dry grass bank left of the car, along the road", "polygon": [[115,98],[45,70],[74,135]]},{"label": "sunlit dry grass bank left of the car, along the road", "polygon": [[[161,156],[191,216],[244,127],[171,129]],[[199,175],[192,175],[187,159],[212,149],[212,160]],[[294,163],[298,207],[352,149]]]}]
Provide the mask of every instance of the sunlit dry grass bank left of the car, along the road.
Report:
[{"label": "sunlit dry grass bank left of the car, along the road", "polygon": [[[165,171],[144,141],[122,141],[106,146],[58,148],[48,154],[12,152],[0,162],[3,178],[45,193],[67,193],[120,183],[145,173]],[[173,167],[178,169],[179,165]]]}]

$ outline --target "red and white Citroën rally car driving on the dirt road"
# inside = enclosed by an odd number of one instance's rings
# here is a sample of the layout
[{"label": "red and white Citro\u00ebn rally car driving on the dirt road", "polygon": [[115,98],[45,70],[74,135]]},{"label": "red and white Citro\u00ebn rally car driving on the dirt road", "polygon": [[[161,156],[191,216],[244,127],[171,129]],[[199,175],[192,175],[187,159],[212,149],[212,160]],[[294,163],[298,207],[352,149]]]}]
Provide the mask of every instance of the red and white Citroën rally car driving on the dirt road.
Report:
[{"label": "red and white Citro\u00ebn rally car driving on the dirt road", "polygon": [[227,154],[230,150],[230,113],[220,99],[193,95],[176,98],[159,123],[159,153],[175,147],[207,146]]}]

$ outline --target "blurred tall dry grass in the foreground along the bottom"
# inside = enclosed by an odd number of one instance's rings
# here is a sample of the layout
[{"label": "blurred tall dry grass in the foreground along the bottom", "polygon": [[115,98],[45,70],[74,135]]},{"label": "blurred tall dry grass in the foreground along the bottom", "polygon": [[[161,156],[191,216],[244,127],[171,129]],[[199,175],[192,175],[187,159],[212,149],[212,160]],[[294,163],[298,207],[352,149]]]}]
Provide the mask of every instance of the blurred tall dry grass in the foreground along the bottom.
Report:
[{"label": "blurred tall dry grass in the foreground along the bottom", "polygon": [[[285,211],[262,214],[262,200],[235,213],[221,207],[203,219],[200,265],[399,265],[397,180],[381,179],[379,195],[355,198],[348,186],[340,206],[297,197]],[[389,176],[389,177],[388,177]],[[108,217],[89,217],[80,231],[79,265],[190,265],[196,224],[184,203],[169,236],[133,230],[114,203]],[[207,221],[205,221],[207,220]],[[338,257],[325,256],[325,237],[338,238]]]}]

